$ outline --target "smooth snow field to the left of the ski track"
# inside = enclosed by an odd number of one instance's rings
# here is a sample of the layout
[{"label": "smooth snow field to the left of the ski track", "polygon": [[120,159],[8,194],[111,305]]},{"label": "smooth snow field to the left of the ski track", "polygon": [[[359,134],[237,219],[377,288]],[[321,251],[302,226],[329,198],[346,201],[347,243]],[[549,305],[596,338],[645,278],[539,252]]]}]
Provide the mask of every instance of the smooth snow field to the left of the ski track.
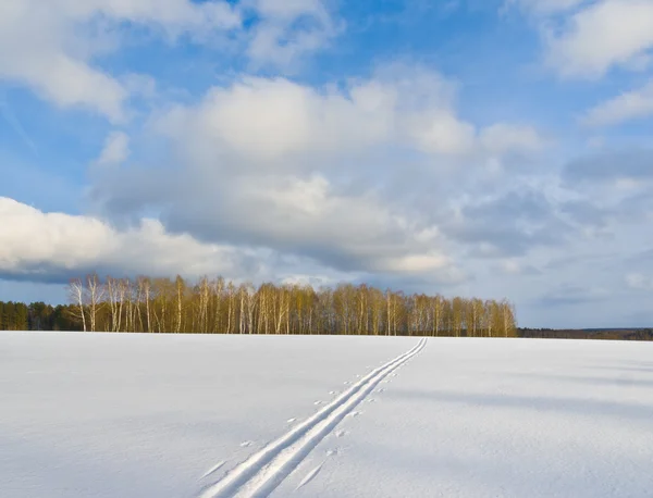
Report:
[{"label": "smooth snow field to the left of the ski track", "polygon": [[0,496],[196,497],[415,344],[0,333]]}]

